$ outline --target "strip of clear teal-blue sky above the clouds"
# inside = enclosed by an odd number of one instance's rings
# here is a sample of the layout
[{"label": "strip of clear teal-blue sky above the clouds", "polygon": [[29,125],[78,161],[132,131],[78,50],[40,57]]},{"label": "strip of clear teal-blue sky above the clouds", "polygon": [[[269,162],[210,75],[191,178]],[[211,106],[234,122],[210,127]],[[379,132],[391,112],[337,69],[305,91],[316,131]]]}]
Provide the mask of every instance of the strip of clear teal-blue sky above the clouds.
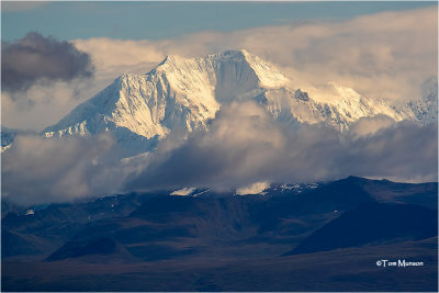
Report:
[{"label": "strip of clear teal-blue sky above the clouds", "polygon": [[2,1],[2,41],[30,31],[59,40],[173,38],[199,31],[230,32],[303,20],[344,20],[437,2],[21,2]]}]

